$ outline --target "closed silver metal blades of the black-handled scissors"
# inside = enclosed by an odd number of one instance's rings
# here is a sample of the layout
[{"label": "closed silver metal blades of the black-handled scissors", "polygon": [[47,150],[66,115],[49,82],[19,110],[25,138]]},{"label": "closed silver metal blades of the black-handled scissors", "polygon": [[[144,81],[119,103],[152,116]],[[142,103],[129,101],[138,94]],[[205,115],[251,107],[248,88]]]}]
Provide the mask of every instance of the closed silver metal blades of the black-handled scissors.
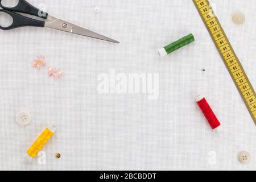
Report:
[{"label": "closed silver metal blades of the black-handled scissors", "polygon": [[105,40],[117,44],[119,43],[117,40],[107,38],[106,36],[97,34],[96,32],[87,30],[86,28],[76,26],[75,24],[65,22],[64,20],[54,18],[53,16],[50,15],[48,15],[47,20],[48,21],[46,22],[45,27],[55,28],[57,30],[70,32],[72,34],[88,36],[90,38]]}]

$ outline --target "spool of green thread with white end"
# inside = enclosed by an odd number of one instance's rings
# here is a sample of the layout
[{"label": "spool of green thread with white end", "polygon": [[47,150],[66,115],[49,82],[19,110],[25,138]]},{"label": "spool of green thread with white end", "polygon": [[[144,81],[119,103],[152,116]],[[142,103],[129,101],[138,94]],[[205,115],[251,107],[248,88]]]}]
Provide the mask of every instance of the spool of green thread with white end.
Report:
[{"label": "spool of green thread with white end", "polygon": [[170,54],[171,52],[176,51],[177,49],[180,49],[181,47],[184,47],[192,42],[195,41],[195,37],[193,36],[193,34],[189,34],[187,36],[184,36],[184,38],[181,38],[179,40],[177,40],[174,43],[169,44],[168,46],[160,49],[158,51],[160,56],[166,56],[168,54]]}]

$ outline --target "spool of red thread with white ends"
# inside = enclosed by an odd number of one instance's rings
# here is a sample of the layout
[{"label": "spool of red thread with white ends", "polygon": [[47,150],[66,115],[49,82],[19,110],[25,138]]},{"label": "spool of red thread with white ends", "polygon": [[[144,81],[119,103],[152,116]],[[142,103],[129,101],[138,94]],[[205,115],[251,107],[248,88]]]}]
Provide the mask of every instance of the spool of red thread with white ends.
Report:
[{"label": "spool of red thread with white ends", "polygon": [[215,131],[216,133],[220,133],[223,130],[223,127],[221,126],[221,123],[218,121],[216,115],[213,113],[204,96],[197,96],[196,102],[197,105],[199,105],[201,111],[203,111],[204,116],[205,118],[207,118],[207,121],[209,122],[210,127],[212,127],[213,131]]}]

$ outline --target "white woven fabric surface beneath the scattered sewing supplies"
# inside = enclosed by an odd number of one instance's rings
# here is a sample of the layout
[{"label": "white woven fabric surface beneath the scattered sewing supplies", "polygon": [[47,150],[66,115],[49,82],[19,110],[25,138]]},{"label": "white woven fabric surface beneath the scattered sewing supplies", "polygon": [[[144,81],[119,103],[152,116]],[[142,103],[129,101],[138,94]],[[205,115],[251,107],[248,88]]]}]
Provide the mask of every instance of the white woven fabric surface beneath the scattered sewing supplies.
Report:
[{"label": "white woven fabric surface beneath the scattered sewing supplies", "polygon": [[[256,127],[192,0],[28,0],[47,13],[110,36],[120,44],[49,28],[0,31],[0,169],[189,170],[256,169]],[[256,88],[256,1],[214,0],[217,16]],[[94,13],[100,7],[100,13]],[[243,11],[246,22],[232,23]],[[166,57],[157,51],[190,32],[195,43]],[[64,77],[47,77],[30,63],[45,55]],[[201,69],[205,69],[205,73]],[[158,100],[146,94],[99,94],[97,76],[159,73]],[[195,102],[203,93],[224,126],[214,134]],[[15,113],[32,114],[29,126]],[[50,123],[55,135],[46,164],[23,158]],[[241,150],[251,163],[240,164]],[[209,152],[217,162],[210,165]],[[56,159],[55,153],[61,158]]]}]

